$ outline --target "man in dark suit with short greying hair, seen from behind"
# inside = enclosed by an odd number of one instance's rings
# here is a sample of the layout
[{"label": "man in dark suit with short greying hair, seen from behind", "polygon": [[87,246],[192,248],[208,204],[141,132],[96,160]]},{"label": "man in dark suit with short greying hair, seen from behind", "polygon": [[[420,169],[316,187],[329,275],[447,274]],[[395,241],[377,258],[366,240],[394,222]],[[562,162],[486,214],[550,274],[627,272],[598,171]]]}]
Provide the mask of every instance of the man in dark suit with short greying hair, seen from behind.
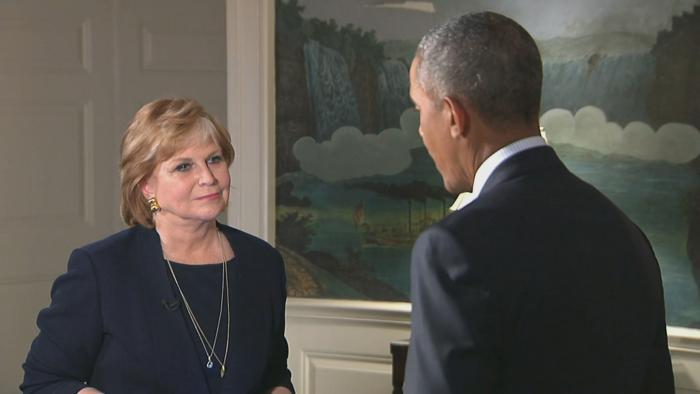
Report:
[{"label": "man in dark suit with short greying hair, seen from behind", "polygon": [[445,188],[472,195],[414,246],[405,392],[672,393],[658,263],[540,137],[532,37],[494,13],[452,19],[410,78]]}]

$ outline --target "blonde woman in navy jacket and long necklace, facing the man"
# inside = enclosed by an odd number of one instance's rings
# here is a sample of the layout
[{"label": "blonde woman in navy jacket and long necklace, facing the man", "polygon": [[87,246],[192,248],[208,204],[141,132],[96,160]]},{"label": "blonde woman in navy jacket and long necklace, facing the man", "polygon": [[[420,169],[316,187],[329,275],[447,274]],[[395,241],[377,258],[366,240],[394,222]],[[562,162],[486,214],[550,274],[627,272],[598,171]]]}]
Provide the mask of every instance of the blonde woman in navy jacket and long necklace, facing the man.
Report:
[{"label": "blonde woman in navy jacket and long necklace, facing the man", "polygon": [[233,157],[193,100],[136,113],[121,158],[130,228],[71,254],[39,313],[23,392],[293,392],[282,259],[216,222]]}]

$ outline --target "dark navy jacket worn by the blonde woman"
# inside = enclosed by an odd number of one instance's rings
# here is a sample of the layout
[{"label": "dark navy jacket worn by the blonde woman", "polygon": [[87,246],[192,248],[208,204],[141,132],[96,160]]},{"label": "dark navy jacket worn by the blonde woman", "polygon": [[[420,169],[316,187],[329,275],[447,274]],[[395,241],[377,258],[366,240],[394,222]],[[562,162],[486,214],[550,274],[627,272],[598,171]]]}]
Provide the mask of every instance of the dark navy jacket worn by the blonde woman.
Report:
[{"label": "dark navy jacket worn by the blonde woman", "polygon": [[[224,393],[291,386],[284,338],[285,276],[270,245],[219,225],[230,263],[231,344]],[[24,364],[26,393],[207,393],[203,360],[155,230],[136,226],[76,249],[39,313]]]}]

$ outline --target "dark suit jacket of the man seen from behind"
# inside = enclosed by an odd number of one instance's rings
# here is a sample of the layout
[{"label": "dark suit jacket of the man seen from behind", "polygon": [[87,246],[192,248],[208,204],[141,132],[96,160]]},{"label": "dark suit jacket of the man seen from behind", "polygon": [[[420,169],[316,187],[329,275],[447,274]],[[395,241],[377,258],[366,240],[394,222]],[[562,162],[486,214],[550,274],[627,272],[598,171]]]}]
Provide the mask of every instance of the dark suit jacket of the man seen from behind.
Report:
[{"label": "dark suit jacket of the man seen from behind", "polygon": [[406,393],[673,393],[659,266],[549,147],[413,249]]}]

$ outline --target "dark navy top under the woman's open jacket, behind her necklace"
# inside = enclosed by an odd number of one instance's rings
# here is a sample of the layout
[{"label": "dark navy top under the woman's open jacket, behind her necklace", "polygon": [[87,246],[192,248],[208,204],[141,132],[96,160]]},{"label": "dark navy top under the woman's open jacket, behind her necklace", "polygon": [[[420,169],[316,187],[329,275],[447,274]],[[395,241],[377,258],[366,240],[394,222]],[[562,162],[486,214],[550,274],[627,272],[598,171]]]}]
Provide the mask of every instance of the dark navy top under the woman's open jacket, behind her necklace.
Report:
[{"label": "dark navy top under the woman's open jacket, behind her necklace", "polygon": [[[231,269],[231,265],[235,264],[236,258],[226,262],[227,270]],[[221,279],[223,274],[223,266],[220,263],[214,264],[204,264],[204,265],[190,265],[181,264],[176,262],[171,262],[173,266],[173,271],[177,276],[178,283],[182,288],[182,292],[187,299],[187,302],[192,309],[194,317],[197,319],[199,326],[204,330],[204,335],[206,336],[209,343],[214,343],[214,335],[216,333],[216,325],[219,319],[219,308],[221,307]],[[167,268],[167,263],[166,263]],[[168,269],[170,273],[170,269]],[[179,308],[183,314],[183,318],[187,321],[187,326],[189,328],[190,336],[192,338],[192,343],[199,353],[199,364],[202,367],[202,372],[207,378],[207,384],[209,385],[209,392],[211,394],[221,393],[221,365],[212,356],[212,368],[207,368],[206,364],[208,361],[207,355],[204,350],[197,332],[195,331],[192,319],[187,313],[184,302],[179,297],[179,291],[175,285],[175,281],[170,277],[170,284],[172,285],[173,292],[178,295],[180,301]],[[230,280],[229,280],[230,285]],[[221,311],[221,323],[219,327],[219,335],[216,340],[215,352],[221,360],[224,360],[224,354],[226,353],[226,328],[227,328],[227,305],[226,305],[226,293],[224,292],[223,300],[223,310]],[[232,317],[233,319],[233,317]],[[234,335],[233,332],[230,333],[231,336]],[[230,372],[229,363],[231,355],[230,343],[229,343],[229,357],[225,360],[225,366],[227,372]]]}]

